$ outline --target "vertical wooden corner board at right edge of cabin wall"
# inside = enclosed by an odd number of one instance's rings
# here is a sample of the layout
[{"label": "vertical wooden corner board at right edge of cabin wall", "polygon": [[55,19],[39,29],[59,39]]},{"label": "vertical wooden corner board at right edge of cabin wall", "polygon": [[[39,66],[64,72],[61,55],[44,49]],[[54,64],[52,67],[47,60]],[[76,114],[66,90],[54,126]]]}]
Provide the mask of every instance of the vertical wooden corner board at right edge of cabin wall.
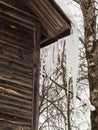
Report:
[{"label": "vertical wooden corner board at right edge of cabin wall", "polygon": [[32,130],[38,129],[39,118],[40,32],[40,24],[37,23],[34,31]]}]

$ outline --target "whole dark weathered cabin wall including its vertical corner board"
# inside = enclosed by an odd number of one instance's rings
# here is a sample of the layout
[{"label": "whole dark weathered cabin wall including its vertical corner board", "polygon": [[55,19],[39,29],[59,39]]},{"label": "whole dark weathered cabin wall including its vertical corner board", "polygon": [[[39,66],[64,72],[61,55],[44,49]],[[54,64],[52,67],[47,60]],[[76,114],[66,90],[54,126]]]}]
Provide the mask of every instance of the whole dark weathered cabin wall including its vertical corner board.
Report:
[{"label": "whole dark weathered cabin wall including its vertical corner board", "polygon": [[33,20],[0,4],[0,130],[38,127],[40,28]]}]

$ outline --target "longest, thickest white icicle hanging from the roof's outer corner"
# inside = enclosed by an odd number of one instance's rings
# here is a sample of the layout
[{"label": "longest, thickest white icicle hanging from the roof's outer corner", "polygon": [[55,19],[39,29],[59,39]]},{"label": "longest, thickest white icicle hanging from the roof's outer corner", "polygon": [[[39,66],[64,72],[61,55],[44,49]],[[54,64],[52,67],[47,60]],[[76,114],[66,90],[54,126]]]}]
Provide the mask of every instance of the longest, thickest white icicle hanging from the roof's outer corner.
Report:
[{"label": "longest, thickest white icicle hanging from the roof's outer corner", "polygon": [[78,56],[79,56],[79,34],[77,28],[72,25],[72,34],[66,40],[66,70],[67,70],[67,89],[69,90],[69,80],[72,78],[73,102],[76,107],[76,91],[78,77]]}]

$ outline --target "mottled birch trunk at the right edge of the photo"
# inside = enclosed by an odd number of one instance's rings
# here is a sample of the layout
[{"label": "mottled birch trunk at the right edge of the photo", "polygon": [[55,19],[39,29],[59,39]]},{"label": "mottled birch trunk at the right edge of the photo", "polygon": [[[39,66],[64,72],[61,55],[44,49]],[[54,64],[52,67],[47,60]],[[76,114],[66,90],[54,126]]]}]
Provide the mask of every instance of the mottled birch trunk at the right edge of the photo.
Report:
[{"label": "mottled birch trunk at the right edge of the photo", "polygon": [[96,107],[96,110],[91,112],[91,130],[98,130],[98,41],[96,40],[95,0],[81,0],[80,6],[84,16],[85,49],[91,102]]}]

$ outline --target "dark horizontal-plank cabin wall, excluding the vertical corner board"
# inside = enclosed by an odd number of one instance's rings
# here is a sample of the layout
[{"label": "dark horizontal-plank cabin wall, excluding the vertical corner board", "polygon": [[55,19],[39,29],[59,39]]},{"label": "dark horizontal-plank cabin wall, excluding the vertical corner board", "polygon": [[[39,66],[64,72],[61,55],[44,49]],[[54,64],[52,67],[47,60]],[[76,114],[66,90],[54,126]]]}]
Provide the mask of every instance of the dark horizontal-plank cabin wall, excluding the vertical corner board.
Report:
[{"label": "dark horizontal-plank cabin wall, excluding the vertical corner board", "polygon": [[[30,129],[33,46],[25,32],[0,27],[0,127]],[[11,126],[11,122],[13,126]],[[14,126],[15,124],[15,126]],[[5,129],[6,130],[6,129]]]}]

